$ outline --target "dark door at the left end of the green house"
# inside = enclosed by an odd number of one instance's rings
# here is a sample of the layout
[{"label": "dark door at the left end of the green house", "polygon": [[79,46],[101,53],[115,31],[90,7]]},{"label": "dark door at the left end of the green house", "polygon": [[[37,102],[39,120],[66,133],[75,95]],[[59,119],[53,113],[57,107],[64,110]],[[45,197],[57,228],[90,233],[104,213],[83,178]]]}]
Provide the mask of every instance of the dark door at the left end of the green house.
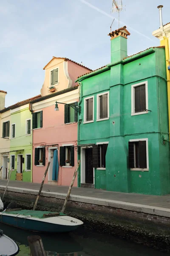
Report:
[{"label": "dark door at the left end of the green house", "polygon": [[92,148],[85,149],[85,183],[94,183]]}]

